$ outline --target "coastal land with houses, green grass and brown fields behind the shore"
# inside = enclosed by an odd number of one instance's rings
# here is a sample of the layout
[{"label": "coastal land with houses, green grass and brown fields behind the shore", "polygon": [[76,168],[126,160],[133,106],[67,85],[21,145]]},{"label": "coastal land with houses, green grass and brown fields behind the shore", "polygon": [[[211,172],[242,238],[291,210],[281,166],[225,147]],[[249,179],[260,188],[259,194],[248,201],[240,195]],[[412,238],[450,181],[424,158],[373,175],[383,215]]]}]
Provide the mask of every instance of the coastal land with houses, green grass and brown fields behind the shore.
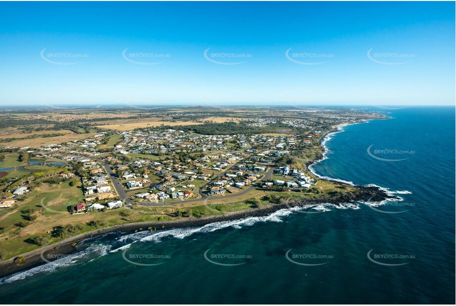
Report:
[{"label": "coastal land with houses, green grass and brown fields behind the shore", "polygon": [[338,126],[380,118],[324,107],[5,109],[0,257],[118,224],[350,193],[307,166]]}]

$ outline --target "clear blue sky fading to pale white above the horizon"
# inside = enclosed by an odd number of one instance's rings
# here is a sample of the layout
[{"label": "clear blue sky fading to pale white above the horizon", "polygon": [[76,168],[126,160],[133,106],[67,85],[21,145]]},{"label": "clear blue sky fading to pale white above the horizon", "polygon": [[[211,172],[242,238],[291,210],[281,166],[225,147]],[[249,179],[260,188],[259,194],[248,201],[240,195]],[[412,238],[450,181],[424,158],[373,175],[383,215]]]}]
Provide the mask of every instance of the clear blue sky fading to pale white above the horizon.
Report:
[{"label": "clear blue sky fading to pale white above the horizon", "polygon": [[0,105],[455,104],[454,2],[0,2],[0,42]]}]

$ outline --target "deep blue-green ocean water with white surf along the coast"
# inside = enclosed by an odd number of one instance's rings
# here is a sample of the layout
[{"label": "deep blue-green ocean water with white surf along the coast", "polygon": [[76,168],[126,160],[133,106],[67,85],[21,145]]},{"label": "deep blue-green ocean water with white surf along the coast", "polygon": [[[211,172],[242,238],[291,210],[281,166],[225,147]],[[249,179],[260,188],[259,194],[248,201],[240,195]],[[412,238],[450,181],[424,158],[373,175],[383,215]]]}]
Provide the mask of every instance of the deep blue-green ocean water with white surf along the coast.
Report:
[{"label": "deep blue-green ocean water with white surf along the coast", "polygon": [[1,279],[0,301],[454,304],[455,107],[385,111],[332,135],[313,170],[403,201],[112,233]]}]

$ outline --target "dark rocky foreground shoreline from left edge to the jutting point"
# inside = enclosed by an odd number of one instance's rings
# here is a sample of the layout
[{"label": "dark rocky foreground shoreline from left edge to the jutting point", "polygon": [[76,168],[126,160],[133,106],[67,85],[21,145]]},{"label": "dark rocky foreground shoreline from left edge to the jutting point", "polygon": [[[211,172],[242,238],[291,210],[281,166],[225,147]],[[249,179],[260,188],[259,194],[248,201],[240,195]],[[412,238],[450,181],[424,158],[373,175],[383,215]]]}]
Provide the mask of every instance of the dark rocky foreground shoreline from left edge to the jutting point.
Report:
[{"label": "dark rocky foreground shoreline from left edge to the jutting point", "polygon": [[332,197],[332,198],[321,198],[321,199],[309,199],[309,200],[294,200],[285,201],[281,204],[274,204],[262,208],[252,208],[248,210],[233,211],[225,213],[223,215],[207,216],[201,218],[187,218],[176,221],[147,221],[147,222],[136,222],[121,225],[114,225],[98,230],[94,230],[88,233],[80,234],[58,243],[28,252],[26,254],[17,256],[24,257],[25,261],[22,264],[17,264],[15,258],[0,262],[0,277],[4,277],[10,274],[14,274],[23,270],[27,270],[44,263],[49,262],[44,259],[45,257],[61,258],[64,255],[72,254],[76,251],[74,247],[77,243],[92,238],[98,235],[111,233],[111,232],[135,232],[140,229],[147,229],[152,227],[153,229],[169,230],[173,228],[184,228],[184,227],[195,227],[203,226],[213,222],[230,221],[235,219],[244,219],[248,217],[261,217],[271,214],[279,209],[291,208],[295,206],[306,206],[315,204],[334,204],[342,205],[344,203],[354,203],[360,201],[372,201],[380,202],[386,199],[397,199],[395,196],[388,195],[385,191],[379,187],[365,187],[356,186],[356,191],[349,194]]}]

